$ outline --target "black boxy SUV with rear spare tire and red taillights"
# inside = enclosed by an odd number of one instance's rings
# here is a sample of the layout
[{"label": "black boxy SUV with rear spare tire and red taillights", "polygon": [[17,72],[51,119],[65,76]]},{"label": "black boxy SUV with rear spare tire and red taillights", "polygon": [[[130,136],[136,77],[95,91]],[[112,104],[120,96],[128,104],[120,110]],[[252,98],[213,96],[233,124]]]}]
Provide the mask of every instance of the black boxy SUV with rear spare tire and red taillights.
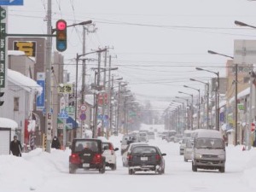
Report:
[{"label": "black boxy SUV with rear spare tire and red taillights", "polygon": [[102,155],[103,148],[100,139],[73,139],[71,150],[69,173],[75,173],[79,168],[105,172],[106,158]]}]

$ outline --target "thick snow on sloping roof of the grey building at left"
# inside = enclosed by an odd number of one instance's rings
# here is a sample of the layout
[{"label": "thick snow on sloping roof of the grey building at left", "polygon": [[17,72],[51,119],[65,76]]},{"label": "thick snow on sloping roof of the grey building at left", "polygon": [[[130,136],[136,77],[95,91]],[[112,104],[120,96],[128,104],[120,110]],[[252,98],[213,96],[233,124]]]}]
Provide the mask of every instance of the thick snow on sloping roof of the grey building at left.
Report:
[{"label": "thick snow on sloping roof of the grey building at left", "polygon": [[41,95],[43,88],[33,79],[26,77],[25,75],[8,69],[8,80],[13,84],[20,85],[24,90],[31,91],[36,90],[38,95]]}]

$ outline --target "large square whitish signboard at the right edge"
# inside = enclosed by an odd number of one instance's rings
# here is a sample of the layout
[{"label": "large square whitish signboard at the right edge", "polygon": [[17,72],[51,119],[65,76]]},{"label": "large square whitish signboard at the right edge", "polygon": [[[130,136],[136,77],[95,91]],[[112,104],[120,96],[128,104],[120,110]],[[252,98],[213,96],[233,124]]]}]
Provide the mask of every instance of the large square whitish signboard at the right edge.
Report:
[{"label": "large square whitish signboard at the right edge", "polygon": [[256,40],[234,41],[234,64],[256,63]]}]

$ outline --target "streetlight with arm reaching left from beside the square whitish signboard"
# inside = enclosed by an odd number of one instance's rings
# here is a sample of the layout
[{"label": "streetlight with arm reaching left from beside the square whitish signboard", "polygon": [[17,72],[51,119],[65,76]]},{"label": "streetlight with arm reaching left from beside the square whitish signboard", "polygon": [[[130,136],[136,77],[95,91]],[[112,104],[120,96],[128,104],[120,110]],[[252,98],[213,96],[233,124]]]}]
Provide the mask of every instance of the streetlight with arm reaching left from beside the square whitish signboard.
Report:
[{"label": "streetlight with arm reaching left from beside the square whitish signboard", "polygon": [[[237,22],[235,22],[235,23],[237,23]],[[214,54],[214,55],[222,55],[222,56],[228,57],[230,59],[234,59],[233,56],[219,54],[219,53],[217,53],[215,51],[212,51],[212,50],[208,50],[208,53],[209,54]],[[238,68],[238,64],[235,63],[235,145],[237,145],[237,113],[238,113],[238,110],[237,110],[237,83],[238,83],[238,80],[237,80],[237,78],[238,78],[237,77],[238,76],[237,68]]]}]

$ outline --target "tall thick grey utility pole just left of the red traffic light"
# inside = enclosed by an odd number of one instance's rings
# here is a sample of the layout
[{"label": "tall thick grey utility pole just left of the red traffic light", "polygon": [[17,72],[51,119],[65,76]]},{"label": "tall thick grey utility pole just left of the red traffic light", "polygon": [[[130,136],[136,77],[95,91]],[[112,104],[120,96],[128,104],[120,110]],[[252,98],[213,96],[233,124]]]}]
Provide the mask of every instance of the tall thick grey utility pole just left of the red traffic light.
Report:
[{"label": "tall thick grey utility pole just left of the red traffic light", "polygon": [[[51,0],[48,0],[47,8],[47,34],[52,33],[51,27]],[[46,39],[46,54],[45,54],[45,125],[44,132],[46,135],[46,152],[50,153],[52,119],[51,119],[51,52],[52,52],[52,38]],[[63,128],[64,129],[64,128]]]}]

